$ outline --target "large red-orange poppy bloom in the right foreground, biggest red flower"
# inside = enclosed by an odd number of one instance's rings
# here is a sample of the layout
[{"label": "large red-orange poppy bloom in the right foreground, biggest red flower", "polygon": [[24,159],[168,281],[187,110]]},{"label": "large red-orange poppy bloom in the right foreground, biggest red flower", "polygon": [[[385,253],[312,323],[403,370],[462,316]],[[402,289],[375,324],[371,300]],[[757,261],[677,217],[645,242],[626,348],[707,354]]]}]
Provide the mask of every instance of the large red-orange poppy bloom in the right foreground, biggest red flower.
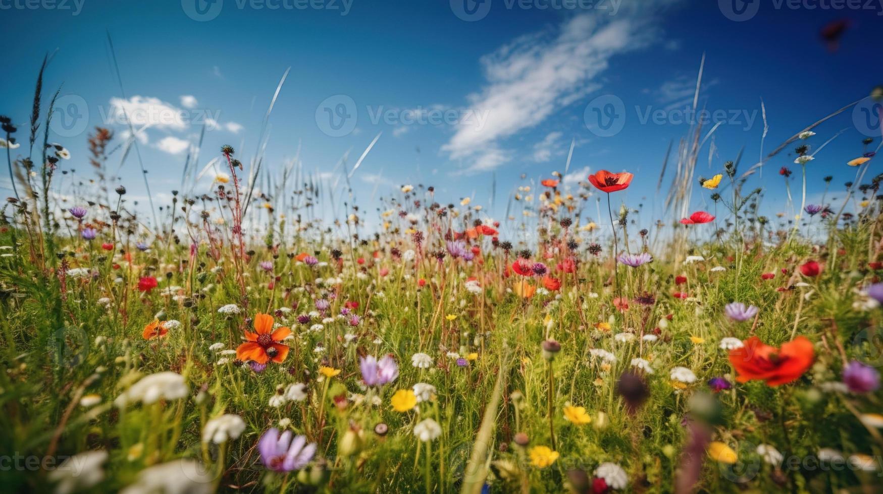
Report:
[{"label": "large red-orange poppy bloom in the right foreground, biggest red flower", "polygon": [[805,336],[783,343],[776,349],[752,336],[742,348],[729,351],[729,362],[738,372],[740,383],[763,379],[766,385],[784,385],[800,378],[815,358],[812,342]]}]

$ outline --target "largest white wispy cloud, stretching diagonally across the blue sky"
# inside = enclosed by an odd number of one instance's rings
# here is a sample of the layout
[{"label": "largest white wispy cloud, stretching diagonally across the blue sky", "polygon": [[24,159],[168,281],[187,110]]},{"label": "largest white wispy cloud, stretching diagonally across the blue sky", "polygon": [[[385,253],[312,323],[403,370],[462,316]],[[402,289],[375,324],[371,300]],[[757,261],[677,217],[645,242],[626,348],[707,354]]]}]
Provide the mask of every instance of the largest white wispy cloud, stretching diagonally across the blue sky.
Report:
[{"label": "largest white wispy cloud, stretching diagonally across the blue sky", "polygon": [[[531,34],[497,49],[480,60],[487,84],[470,94],[468,107],[486,115],[457,125],[442,146],[453,160],[464,160],[460,173],[496,168],[512,153],[502,140],[531,129],[555,111],[599,87],[595,80],[610,59],[646,46],[654,39],[647,19],[658,12],[647,8],[672,0],[648,0],[641,9],[621,11],[615,19],[584,13],[565,21],[555,33]],[[646,17],[638,17],[643,12]]]}]

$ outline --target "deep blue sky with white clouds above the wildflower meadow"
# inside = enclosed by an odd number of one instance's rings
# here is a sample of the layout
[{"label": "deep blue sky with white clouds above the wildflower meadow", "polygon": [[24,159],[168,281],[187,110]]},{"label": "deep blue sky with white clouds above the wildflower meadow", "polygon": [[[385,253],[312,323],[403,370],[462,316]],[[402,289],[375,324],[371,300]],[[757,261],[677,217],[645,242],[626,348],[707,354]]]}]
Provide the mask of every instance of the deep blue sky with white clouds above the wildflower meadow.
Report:
[{"label": "deep blue sky with white clouds above the wildflower meadow", "polygon": [[[351,150],[352,164],[382,132],[353,176],[358,204],[370,210],[398,185],[424,183],[435,186],[441,202],[471,196],[497,219],[509,194],[525,183],[521,174],[535,179],[563,172],[574,141],[565,185],[576,186],[588,171],[629,170],[636,179],[620,198],[630,206],[656,205],[655,215],[648,213],[653,218],[645,218],[655,220],[670,179],[657,196],[661,163],[669,142],[674,139],[676,149],[689,130],[680,123],[681,110],[691,104],[703,54],[699,104],[723,111],[727,122],[700,153],[698,176],[720,172],[743,146],[743,168],[757,161],[761,99],[769,152],[880,83],[876,47],[883,7],[876,0],[863,4],[867,9],[834,9],[828,0],[763,2],[754,4],[757,13],[743,21],[730,19],[727,11],[727,2],[741,0],[585,0],[577,5],[466,0],[483,16],[472,21],[461,19],[459,0],[313,0],[322,8],[306,9],[299,8],[308,4],[300,0],[215,0],[200,4],[208,8],[211,19],[206,20],[192,19],[200,19],[193,2],[204,0],[78,1],[42,0],[34,4],[37,9],[24,8],[24,0],[0,1],[6,38],[15,40],[5,56],[0,113],[19,123],[19,139],[25,140],[34,79],[42,56],[55,50],[46,94],[61,86],[64,108],[74,102],[73,113],[87,115],[89,129],[106,125],[122,138],[127,126],[113,117],[119,108],[136,114],[150,109],[148,121],[166,115],[162,112],[180,112],[183,119],[141,122],[152,123],[139,134],[139,146],[159,201],[179,188],[186,151],[207,116],[216,128],[206,132],[199,168],[222,144],[235,146],[241,158],[255,153],[260,123],[289,67],[269,119],[265,162],[271,173],[283,168],[299,144],[303,168],[325,174],[320,176],[332,183],[343,153]],[[480,10],[488,4],[488,11]],[[270,8],[274,5],[279,8]],[[819,29],[838,19],[849,19],[849,28],[832,52],[820,41]],[[106,31],[114,41],[125,98]],[[592,101],[609,101],[597,100],[606,95],[622,101],[624,109],[624,119],[618,120],[622,129],[611,136],[585,119],[592,115]],[[328,119],[335,118],[336,126],[341,115],[349,117],[349,126],[329,127]],[[414,116],[423,120],[411,121]],[[818,196],[822,176],[834,175],[837,189],[855,176],[845,161],[862,151],[861,127],[848,111],[816,129],[811,144],[817,147],[843,133],[808,167],[811,195]],[[88,176],[87,133],[57,129],[65,135],[53,139],[73,155],[64,167]],[[118,161],[111,161],[116,169]],[[781,153],[766,165],[762,184],[770,191],[771,209],[784,206],[776,172],[783,165],[799,168],[792,161]],[[120,176],[132,198],[147,197],[133,156]],[[497,205],[492,206],[487,202],[494,178]],[[759,177],[752,183],[761,184]],[[8,195],[8,179],[0,185]],[[194,191],[208,191],[208,183]],[[696,191],[691,209],[702,208],[703,197],[707,193]]]}]

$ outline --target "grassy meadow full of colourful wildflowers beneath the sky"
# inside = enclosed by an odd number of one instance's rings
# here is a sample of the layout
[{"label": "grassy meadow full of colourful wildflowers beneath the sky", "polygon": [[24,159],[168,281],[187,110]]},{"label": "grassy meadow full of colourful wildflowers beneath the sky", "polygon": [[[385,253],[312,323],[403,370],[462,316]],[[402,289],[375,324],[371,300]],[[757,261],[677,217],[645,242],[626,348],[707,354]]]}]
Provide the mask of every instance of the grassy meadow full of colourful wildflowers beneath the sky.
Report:
[{"label": "grassy meadow full of colourful wildflowers beneath the sky", "polygon": [[[39,94],[2,118],[5,491],[879,491],[879,138],[684,151],[649,224],[622,195],[655,176],[552,168],[499,221],[429,183],[322,221],[310,176],[253,193],[223,146],[154,219],[105,171],[132,141],[71,155]],[[808,204],[822,159],[856,177]]]}]

